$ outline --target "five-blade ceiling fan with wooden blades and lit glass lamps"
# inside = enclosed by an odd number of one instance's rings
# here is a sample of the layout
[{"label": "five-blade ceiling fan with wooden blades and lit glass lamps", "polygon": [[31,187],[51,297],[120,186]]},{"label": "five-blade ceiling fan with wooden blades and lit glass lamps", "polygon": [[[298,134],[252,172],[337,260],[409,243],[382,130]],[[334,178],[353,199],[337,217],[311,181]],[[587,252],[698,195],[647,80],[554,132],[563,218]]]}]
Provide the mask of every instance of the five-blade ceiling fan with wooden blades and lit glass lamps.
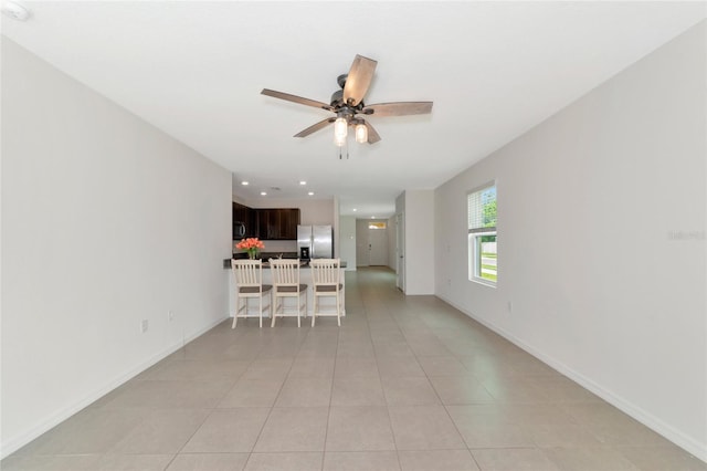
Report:
[{"label": "five-blade ceiling fan with wooden blades and lit glass lamps", "polygon": [[268,88],[263,88],[261,94],[336,114],[336,117],[323,119],[295,134],[294,137],[306,137],[334,123],[334,140],[339,147],[346,144],[349,126],[355,128],[358,143],[373,144],[380,140],[380,136],[373,126],[363,118],[365,116],[407,116],[432,112],[432,102],[393,102],[366,105],[363,97],[371,84],[377,64],[377,61],[357,54],[349,73],[338,76],[337,83],[341,90],[334,92],[329,104]]}]

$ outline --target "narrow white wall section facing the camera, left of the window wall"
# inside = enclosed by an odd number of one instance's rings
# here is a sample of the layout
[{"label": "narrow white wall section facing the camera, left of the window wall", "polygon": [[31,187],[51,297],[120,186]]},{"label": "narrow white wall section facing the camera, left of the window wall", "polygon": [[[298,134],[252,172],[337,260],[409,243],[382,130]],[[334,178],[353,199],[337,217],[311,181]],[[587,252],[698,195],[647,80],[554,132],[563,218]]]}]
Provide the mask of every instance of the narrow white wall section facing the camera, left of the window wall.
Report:
[{"label": "narrow white wall section facing the camera, left of the window wall", "polygon": [[434,294],[434,191],[405,190],[403,207],[405,294]]}]

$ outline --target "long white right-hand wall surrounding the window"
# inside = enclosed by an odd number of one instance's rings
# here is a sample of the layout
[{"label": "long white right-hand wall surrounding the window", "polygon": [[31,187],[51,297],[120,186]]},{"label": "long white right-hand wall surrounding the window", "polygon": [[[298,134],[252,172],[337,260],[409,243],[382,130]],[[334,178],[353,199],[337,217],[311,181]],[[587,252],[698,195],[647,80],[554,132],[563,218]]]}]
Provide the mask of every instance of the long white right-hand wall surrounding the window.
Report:
[{"label": "long white right-hand wall surrounding the window", "polygon": [[[453,178],[435,201],[440,297],[703,460],[706,30]],[[465,227],[466,191],[493,179],[496,289],[467,281]]]}]

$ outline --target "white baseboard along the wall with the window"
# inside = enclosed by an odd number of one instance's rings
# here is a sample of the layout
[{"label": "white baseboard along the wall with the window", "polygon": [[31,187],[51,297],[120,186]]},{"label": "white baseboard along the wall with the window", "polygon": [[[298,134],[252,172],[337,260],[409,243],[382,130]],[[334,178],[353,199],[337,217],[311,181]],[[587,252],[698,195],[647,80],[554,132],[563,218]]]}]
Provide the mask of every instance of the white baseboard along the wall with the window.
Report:
[{"label": "white baseboard along the wall with the window", "polygon": [[665,423],[663,420],[655,417],[654,415],[647,412],[646,410],[640,407],[636,407],[633,402],[631,402],[630,400],[626,400],[624,397],[614,394],[612,390],[606,389],[605,387],[595,383],[591,378],[588,378],[584,375],[573,370],[562,362],[559,362],[556,358],[547,356],[540,349],[535,348],[532,345],[526,344],[520,338],[517,338],[516,336],[504,331],[497,325],[494,325],[487,322],[486,320],[476,317],[474,314],[467,312],[464,307],[455,304],[454,302],[446,299],[445,296],[441,296],[439,294],[436,296],[440,300],[444,301],[445,303],[450,304],[451,306],[455,307],[456,310],[461,311],[462,313],[466,314],[474,321],[478,322],[485,327],[488,327],[496,334],[511,342],[514,345],[518,346],[519,348],[523,348],[525,352],[529,353],[530,355],[538,358],[542,363],[549,365],[550,367],[561,373],[562,375],[567,376],[568,378],[579,384],[583,388],[595,394],[597,396],[604,399],[606,402],[611,404],[619,410],[636,419],[639,422],[643,423],[644,426],[655,431],[656,433],[661,435],[665,439],[683,448],[684,450],[686,450],[688,453],[693,454],[697,459],[707,462],[707,443],[700,443],[695,438],[686,436],[685,433],[677,430],[676,428],[669,426],[668,423]]}]

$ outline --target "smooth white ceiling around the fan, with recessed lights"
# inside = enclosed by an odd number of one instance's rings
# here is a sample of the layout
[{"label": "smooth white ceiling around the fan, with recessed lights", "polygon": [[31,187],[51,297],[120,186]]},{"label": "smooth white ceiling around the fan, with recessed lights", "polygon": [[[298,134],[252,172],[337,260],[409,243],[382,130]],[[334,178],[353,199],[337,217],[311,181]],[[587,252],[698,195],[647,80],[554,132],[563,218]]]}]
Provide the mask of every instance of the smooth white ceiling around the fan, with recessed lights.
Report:
[{"label": "smooth white ceiling around the fan, with recessed lights", "polygon": [[[707,17],[695,2],[21,1],[2,34],[231,170],[244,200],[338,196],[389,216]],[[371,117],[374,145],[339,159],[329,102],[356,54],[378,61],[366,103],[433,101]],[[299,181],[306,180],[306,190]],[[281,190],[271,190],[279,187]],[[267,197],[261,197],[261,190]]]}]

